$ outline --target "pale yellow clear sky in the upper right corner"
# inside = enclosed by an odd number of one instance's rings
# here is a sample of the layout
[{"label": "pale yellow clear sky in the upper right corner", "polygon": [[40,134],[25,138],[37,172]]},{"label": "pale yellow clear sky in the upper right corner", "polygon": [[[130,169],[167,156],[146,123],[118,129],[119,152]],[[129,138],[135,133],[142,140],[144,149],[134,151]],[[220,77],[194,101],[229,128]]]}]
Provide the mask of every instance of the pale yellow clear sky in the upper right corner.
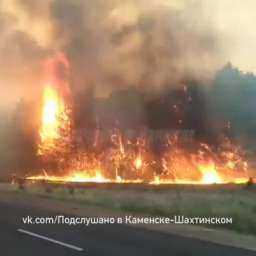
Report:
[{"label": "pale yellow clear sky in the upper right corner", "polygon": [[204,11],[213,21],[223,55],[244,72],[256,73],[256,1],[203,0]]}]

